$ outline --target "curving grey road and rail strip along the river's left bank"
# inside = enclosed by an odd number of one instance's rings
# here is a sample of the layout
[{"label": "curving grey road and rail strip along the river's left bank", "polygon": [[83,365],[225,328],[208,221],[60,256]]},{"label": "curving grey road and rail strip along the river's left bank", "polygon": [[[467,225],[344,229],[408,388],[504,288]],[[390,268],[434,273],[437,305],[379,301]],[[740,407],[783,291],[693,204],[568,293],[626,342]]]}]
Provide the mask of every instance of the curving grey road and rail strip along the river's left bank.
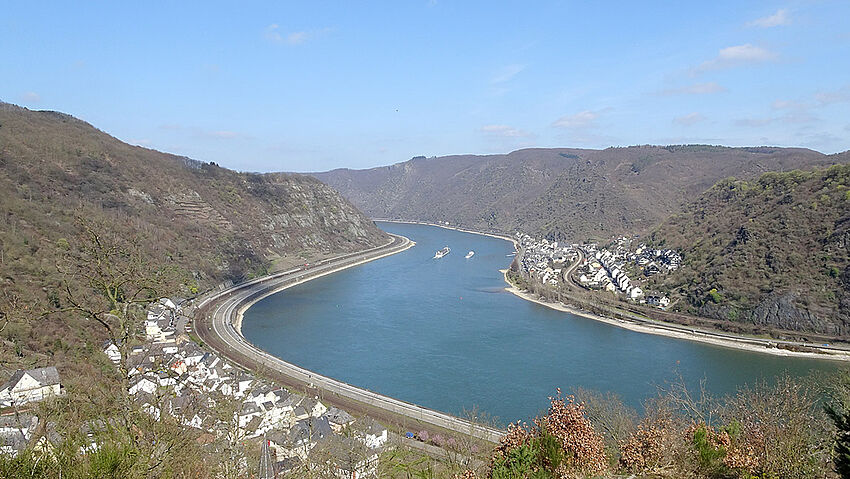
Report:
[{"label": "curving grey road and rail strip along the river's left bank", "polygon": [[202,340],[231,361],[255,372],[274,372],[283,376],[288,384],[306,386],[309,390],[321,392],[323,397],[347,398],[391,415],[402,416],[414,423],[498,442],[504,431],[384,396],[283,361],[249,343],[235,326],[241,321],[242,313],[263,297],[318,276],[403,251],[413,245],[408,238],[392,236],[392,241],[381,247],[330,258],[307,269],[276,273],[211,295],[198,304],[196,331]]}]

